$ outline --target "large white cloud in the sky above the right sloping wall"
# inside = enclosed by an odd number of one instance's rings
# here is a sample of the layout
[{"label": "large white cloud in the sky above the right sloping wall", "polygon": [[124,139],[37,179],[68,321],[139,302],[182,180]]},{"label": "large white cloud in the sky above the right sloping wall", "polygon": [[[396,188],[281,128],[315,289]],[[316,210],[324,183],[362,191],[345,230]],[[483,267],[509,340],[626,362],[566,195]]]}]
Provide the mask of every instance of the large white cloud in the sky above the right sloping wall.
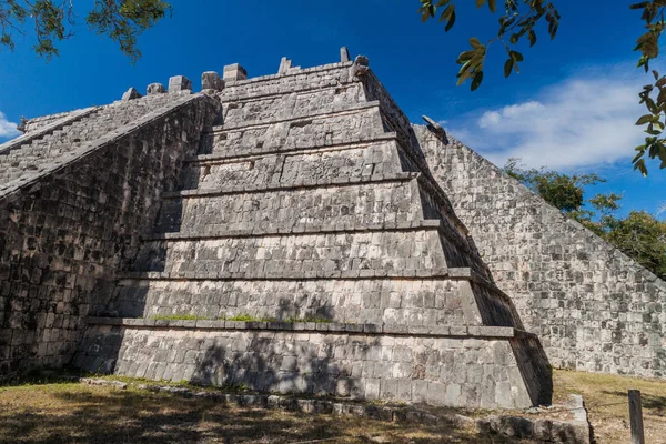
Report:
[{"label": "large white cloud in the sky above the right sloping wall", "polygon": [[645,79],[613,72],[571,78],[527,101],[470,113],[450,125],[490,160],[552,169],[612,164],[644,139],[637,94]]}]

